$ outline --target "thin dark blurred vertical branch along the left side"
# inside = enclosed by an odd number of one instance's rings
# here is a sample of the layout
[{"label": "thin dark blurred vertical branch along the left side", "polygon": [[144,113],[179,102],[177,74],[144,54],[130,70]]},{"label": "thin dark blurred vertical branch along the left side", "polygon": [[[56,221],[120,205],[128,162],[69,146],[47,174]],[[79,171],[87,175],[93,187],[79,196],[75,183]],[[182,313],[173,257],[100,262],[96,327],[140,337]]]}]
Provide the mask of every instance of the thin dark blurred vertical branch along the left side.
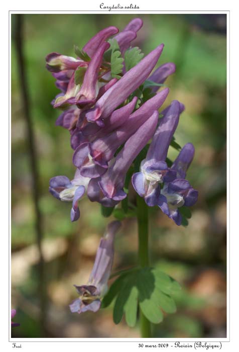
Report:
[{"label": "thin dark blurred vertical branch along the left side", "polygon": [[20,92],[22,95],[22,104],[24,117],[26,119],[27,126],[27,139],[29,145],[29,154],[30,154],[30,164],[31,164],[31,173],[32,173],[32,194],[35,207],[35,226],[36,226],[36,235],[37,235],[37,245],[40,254],[40,259],[38,263],[38,274],[39,274],[39,287],[38,287],[38,296],[40,299],[40,326],[42,330],[42,337],[44,337],[44,326],[46,319],[46,296],[45,296],[45,278],[44,278],[44,257],[42,253],[42,238],[43,238],[43,227],[42,227],[42,214],[39,207],[40,199],[40,188],[39,188],[39,172],[38,172],[38,163],[37,163],[37,151],[34,138],[33,124],[30,114],[30,102],[29,102],[29,87],[26,77],[26,63],[24,60],[23,53],[23,44],[24,44],[24,15],[16,15],[16,26],[14,32],[14,39],[17,49],[17,62],[18,62],[18,71],[19,71],[19,85]]}]

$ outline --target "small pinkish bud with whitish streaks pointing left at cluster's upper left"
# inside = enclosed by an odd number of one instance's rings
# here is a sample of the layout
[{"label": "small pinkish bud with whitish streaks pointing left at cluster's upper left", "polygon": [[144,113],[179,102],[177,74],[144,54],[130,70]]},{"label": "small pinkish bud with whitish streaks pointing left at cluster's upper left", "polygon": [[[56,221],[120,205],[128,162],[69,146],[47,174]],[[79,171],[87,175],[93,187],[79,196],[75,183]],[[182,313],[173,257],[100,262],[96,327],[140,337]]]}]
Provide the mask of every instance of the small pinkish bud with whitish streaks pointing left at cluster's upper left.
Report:
[{"label": "small pinkish bud with whitish streaks pointing left at cluster's upper left", "polygon": [[78,66],[82,65],[87,66],[87,63],[71,56],[65,56],[59,53],[51,53],[46,56],[46,68],[51,72],[75,70]]}]

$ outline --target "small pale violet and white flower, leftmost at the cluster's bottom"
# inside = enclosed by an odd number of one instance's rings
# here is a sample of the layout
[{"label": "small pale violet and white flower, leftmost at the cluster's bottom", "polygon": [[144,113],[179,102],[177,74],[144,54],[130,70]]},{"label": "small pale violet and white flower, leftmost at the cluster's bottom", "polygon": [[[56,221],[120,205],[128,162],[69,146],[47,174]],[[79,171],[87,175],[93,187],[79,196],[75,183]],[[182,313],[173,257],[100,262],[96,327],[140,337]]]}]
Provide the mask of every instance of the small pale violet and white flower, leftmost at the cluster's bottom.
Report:
[{"label": "small pale violet and white flower, leftmost at the cluster's bottom", "polygon": [[71,221],[80,217],[78,201],[83,197],[88,183],[89,179],[81,176],[78,169],[72,181],[66,176],[56,176],[50,180],[49,192],[60,201],[72,202]]}]

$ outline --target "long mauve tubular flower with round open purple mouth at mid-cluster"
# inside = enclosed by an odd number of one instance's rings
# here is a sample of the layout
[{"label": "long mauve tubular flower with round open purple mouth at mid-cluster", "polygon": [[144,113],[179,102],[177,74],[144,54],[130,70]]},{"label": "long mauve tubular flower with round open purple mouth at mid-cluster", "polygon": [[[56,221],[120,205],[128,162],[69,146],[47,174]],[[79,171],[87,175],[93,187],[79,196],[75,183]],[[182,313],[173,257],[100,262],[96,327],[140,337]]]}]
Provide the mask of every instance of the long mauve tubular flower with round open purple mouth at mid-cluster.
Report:
[{"label": "long mauve tubular flower with round open purple mouth at mid-cluster", "polygon": [[[167,95],[168,89],[165,89],[148,100],[133,114],[129,114],[128,120],[112,133],[108,134],[107,128],[106,131],[103,128],[102,131],[106,132],[103,133],[103,137],[98,135],[92,143],[81,144],[73,155],[73,163],[80,169],[80,173],[90,178],[97,178],[102,175],[108,167],[108,161],[112,159],[118,147],[124,144],[147,121],[153,111],[160,108]],[[137,98],[134,105],[136,100]],[[131,112],[134,109],[134,105],[131,103],[127,105],[130,106]]]}]

